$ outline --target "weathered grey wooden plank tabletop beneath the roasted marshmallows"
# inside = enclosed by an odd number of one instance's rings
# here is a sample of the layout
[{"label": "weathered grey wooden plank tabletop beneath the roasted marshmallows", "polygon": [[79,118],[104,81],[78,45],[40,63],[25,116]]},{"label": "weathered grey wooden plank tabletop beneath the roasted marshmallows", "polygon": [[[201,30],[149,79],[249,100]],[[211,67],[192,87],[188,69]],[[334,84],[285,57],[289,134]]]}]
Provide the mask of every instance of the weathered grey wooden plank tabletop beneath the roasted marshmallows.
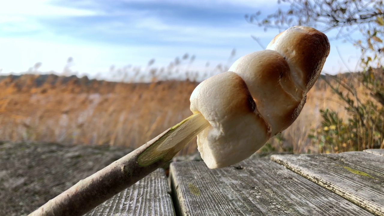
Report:
[{"label": "weathered grey wooden plank tabletop beneath the roasted marshmallows", "polygon": [[168,180],[158,169],[86,215],[384,216],[384,150],[173,162]]}]

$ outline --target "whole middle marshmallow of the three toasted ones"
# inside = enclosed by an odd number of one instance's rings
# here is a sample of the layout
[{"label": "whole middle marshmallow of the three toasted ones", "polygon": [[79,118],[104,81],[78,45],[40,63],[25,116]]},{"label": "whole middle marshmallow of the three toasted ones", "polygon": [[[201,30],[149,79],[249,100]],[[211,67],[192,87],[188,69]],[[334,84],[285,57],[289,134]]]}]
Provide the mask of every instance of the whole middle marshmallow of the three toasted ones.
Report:
[{"label": "whole middle marshmallow of the three toasted ones", "polygon": [[305,93],[296,88],[290,67],[278,52],[250,53],[237,60],[230,70],[247,83],[258,111],[272,127],[272,135],[285,130],[296,120]]}]

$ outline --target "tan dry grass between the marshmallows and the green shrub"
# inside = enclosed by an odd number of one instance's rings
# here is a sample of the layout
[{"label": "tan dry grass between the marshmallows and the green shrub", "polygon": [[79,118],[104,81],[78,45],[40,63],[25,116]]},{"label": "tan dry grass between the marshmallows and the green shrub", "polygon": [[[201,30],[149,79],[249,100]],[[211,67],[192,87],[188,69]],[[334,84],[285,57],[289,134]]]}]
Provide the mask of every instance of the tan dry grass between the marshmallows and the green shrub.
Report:
[{"label": "tan dry grass between the marshmallows and the green shrub", "polygon": [[[370,96],[370,91],[362,85],[359,81],[360,75],[354,73],[338,74],[338,80],[341,80],[346,86],[353,86],[356,89],[357,98],[361,103],[365,103],[367,100],[373,101],[376,105],[379,105],[377,101]],[[343,94],[343,98],[346,96],[352,98],[356,104],[356,98],[343,86],[339,85],[334,79],[330,77],[327,78],[329,83],[335,88],[338,88],[339,91]],[[308,135],[310,133],[316,134],[321,133],[324,128],[321,128],[322,117],[320,115],[320,110],[333,110],[338,113],[338,116],[342,118],[344,122],[351,118],[350,114],[345,109],[347,106],[346,101],[341,99],[338,95],[334,93],[331,87],[326,84],[326,82],[319,78],[313,88],[307,94],[307,102],[300,113],[300,116],[296,121],[282,133],[284,141],[279,141],[278,139],[271,139],[272,146],[277,150],[287,150],[290,149],[295,153],[323,153],[324,150],[320,148],[318,143],[311,142]],[[380,107],[380,105],[379,105]],[[324,129],[325,130],[325,129]],[[316,132],[317,131],[317,132]],[[313,133],[314,132],[314,133]],[[364,133],[364,131],[362,132]],[[335,143],[336,144],[336,143]],[[328,150],[325,152],[334,152],[338,153],[341,151],[353,151],[355,148],[355,143],[348,143],[343,147],[328,146]],[[361,150],[368,148],[367,146]],[[373,148],[373,147],[371,147]]]}]

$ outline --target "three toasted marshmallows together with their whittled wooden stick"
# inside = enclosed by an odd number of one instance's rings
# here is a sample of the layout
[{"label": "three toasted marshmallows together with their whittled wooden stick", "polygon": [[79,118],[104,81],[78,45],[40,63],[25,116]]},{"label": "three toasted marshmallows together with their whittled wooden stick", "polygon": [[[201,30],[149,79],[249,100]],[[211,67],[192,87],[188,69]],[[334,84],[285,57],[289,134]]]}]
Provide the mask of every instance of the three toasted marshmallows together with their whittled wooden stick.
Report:
[{"label": "three toasted marshmallows together with their whittled wooden stick", "polygon": [[328,54],[323,33],[310,27],[288,28],[267,50],[245,55],[228,72],[200,83],[190,97],[192,116],[79,181],[30,216],[81,216],[163,166],[196,135],[209,168],[248,158],[295,121]]}]

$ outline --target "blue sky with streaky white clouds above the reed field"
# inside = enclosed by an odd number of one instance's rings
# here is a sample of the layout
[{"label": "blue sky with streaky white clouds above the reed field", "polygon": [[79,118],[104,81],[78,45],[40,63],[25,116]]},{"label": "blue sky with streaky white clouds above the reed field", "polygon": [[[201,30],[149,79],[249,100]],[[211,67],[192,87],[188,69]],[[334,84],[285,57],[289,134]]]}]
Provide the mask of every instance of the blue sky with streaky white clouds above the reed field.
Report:
[{"label": "blue sky with streaky white clouds above the reed field", "polygon": [[[108,78],[111,65],[167,66],[185,53],[195,55],[190,69],[230,64],[262,50],[278,33],[246,22],[258,10],[274,12],[275,0],[13,0],[0,2],[1,73],[20,73],[36,62],[41,71],[63,71],[68,57],[78,75]],[[281,6],[280,6],[281,7]],[[329,35],[332,36],[332,35]],[[354,70],[358,51],[331,41],[327,73]],[[234,58],[229,58],[236,49]]]}]

